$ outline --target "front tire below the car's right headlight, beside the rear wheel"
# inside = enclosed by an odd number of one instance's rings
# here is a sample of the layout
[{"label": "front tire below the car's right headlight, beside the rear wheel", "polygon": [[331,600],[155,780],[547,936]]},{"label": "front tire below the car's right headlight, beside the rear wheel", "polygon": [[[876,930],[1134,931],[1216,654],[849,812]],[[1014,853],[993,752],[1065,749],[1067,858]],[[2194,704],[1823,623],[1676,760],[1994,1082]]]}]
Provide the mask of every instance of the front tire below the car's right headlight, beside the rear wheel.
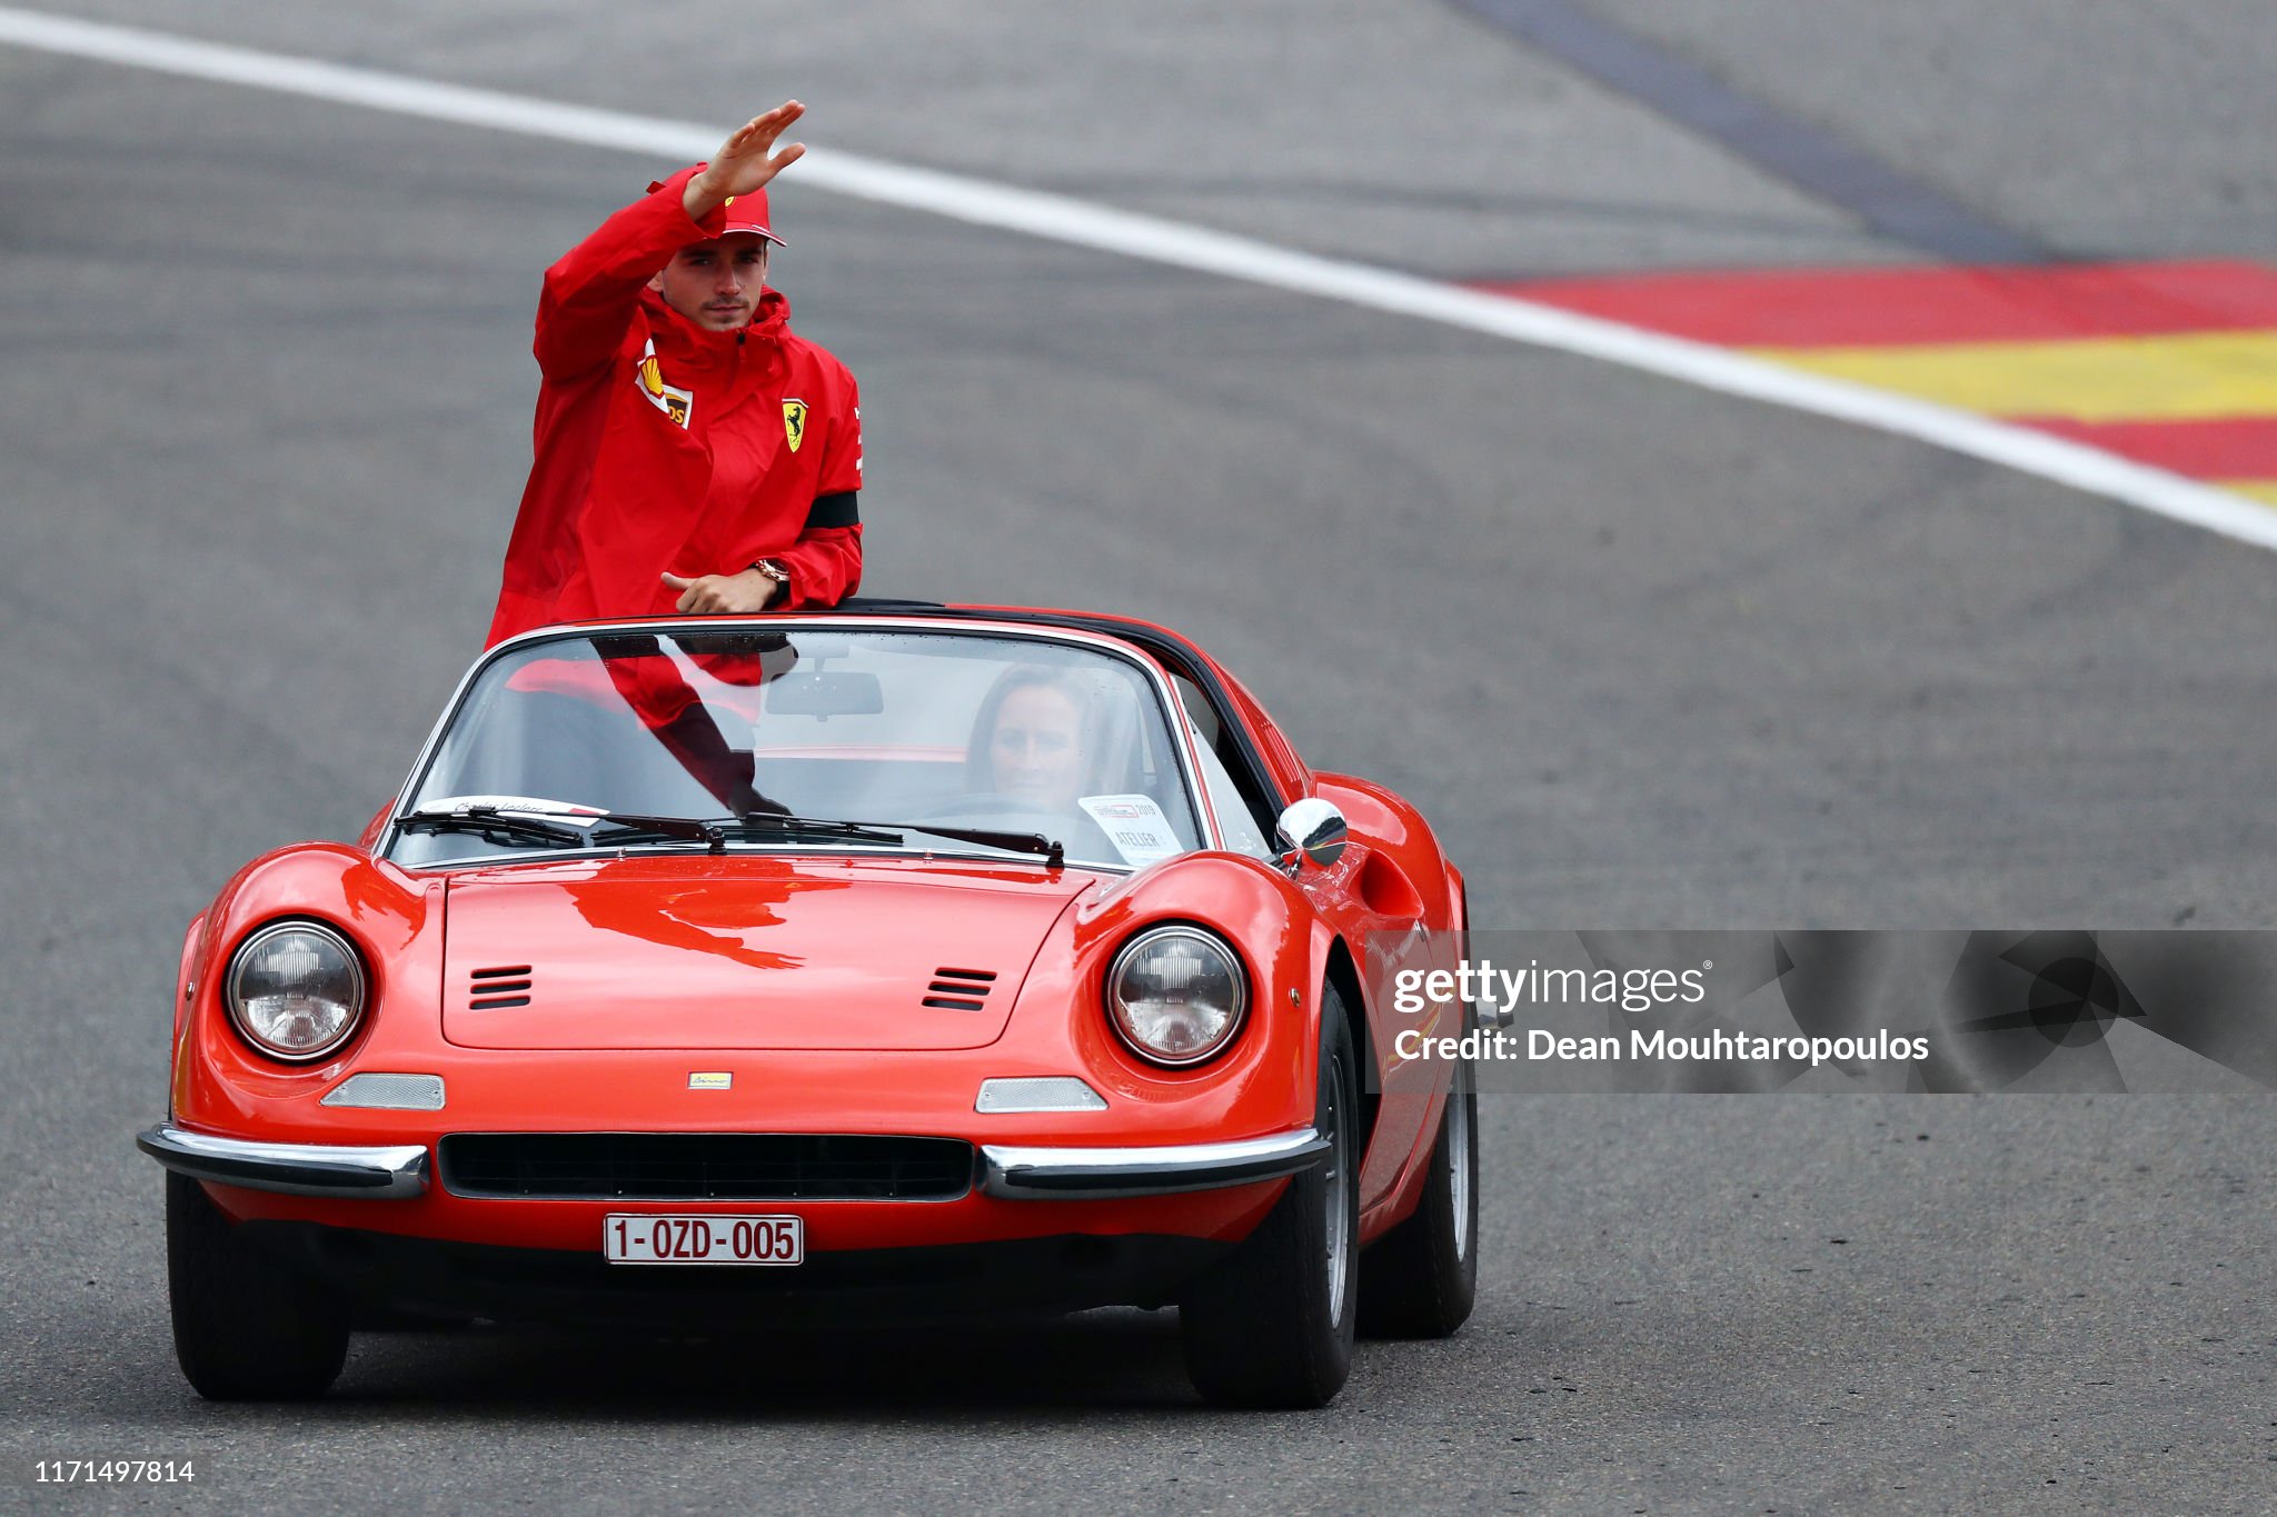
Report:
[{"label": "front tire below the car's right headlight, beside the rear wheel", "polygon": [[1218,1406],[1327,1406],[1359,1310],[1359,1078],[1337,992],[1321,996],[1314,1130],[1327,1155],[1179,1301],[1186,1374]]}]

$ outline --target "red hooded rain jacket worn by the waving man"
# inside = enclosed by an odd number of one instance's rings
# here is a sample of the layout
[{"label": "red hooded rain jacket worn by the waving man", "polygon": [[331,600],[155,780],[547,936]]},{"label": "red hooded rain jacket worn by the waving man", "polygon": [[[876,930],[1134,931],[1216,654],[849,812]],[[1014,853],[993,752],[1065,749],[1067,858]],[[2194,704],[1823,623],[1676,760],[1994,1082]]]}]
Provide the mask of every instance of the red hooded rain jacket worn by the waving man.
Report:
[{"label": "red hooded rain jacket worn by the waving man", "polygon": [[[663,582],[790,571],[783,607],[861,585],[861,396],[765,291],[738,332],[708,332],[649,291],[674,252],[720,237],[665,180],[546,271],[537,302],[535,462],[505,546],[490,641],[581,616],[669,616]],[[820,503],[820,509],[817,509]]]}]

